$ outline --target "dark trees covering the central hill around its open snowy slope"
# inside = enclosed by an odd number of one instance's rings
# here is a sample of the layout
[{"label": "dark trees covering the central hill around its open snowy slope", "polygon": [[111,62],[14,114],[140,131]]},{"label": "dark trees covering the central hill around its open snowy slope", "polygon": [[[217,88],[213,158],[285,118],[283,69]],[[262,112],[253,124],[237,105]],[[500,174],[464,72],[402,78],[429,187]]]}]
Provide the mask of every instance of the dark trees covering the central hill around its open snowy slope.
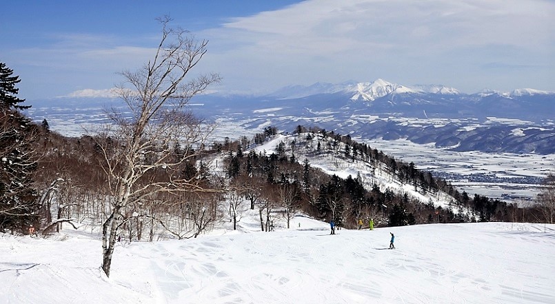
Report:
[{"label": "dark trees covering the central hill around its open snowy slope", "polygon": [[[256,134],[254,143],[263,142],[274,134],[268,131],[269,129]],[[367,145],[356,143],[350,136],[301,125],[295,132],[303,134],[305,138],[298,136],[294,141],[278,143],[272,154],[256,154],[254,150],[244,154],[243,148],[253,142],[228,142],[228,177],[232,180],[264,181],[266,191],[260,197],[265,198],[265,205],[268,201],[274,201],[277,210],[280,210],[284,200],[277,195],[279,192],[270,190],[294,185],[300,194],[294,205],[296,209],[317,219],[334,219],[338,225],[345,227],[354,227],[356,219],[370,218],[382,225],[471,221],[534,222],[547,219],[541,215],[541,210],[547,210],[547,207],[519,206],[478,194],[470,197],[466,192],[458,192],[449,182],[434,178],[430,172],[417,170],[414,163],[396,161]],[[315,157],[332,154],[334,159],[341,158],[352,164],[365,163],[374,173],[376,170],[387,172],[390,176],[395,176],[398,183],[411,185],[414,190],[432,197],[447,196],[451,203],[448,207],[441,207],[434,205],[431,199],[428,202],[418,201],[406,193],[396,193],[388,188],[383,189],[376,183],[362,181],[360,176],[347,176],[346,179],[328,176],[311,168],[307,159],[302,164],[299,163],[296,154]],[[540,197],[546,201],[550,196],[545,192]],[[278,214],[276,210],[274,213]],[[262,228],[264,229],[263,225]]]}]

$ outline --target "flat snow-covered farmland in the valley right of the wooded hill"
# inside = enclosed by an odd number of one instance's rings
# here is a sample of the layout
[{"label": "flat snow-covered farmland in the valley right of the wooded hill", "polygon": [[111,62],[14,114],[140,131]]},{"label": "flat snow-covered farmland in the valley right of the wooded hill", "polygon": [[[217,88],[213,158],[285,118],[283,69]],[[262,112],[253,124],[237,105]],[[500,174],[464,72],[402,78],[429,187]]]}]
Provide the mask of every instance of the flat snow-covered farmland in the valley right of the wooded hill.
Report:
[{"label": "flat snow-covered farmland in the valley right of the wooded hill", "polygon": [[[414,162],[419,170],[433,170],[446,174],[492,174],[498,178],[545,178],[555,174],[555,154],[509,154],[485,152],[454,152],[436,148],[434,144],[418,145],[398,139],[396,141],[371,140],[355,138],[365,142],[372,148],[383,151],[407,163]],[[541,185],[534,183],[509,182],[470,182],[465,180],[452,181],[459,191],[466,191],[471,196],[480,194],[494,199],[504,199],[505,195],[513,198],[535,199],[541,192]],[[518,203],[518,201],[517,201]]]}]

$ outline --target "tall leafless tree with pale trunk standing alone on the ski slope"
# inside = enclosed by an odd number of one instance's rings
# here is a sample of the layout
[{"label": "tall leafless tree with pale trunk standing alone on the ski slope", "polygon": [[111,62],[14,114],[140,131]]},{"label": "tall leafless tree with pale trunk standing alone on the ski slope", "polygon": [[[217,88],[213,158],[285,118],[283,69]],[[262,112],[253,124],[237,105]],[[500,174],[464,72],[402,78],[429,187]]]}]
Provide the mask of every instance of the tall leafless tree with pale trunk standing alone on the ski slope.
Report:
[{"label": "tall leafless tree with pale trunk standing alone on the ski slope", "polygon": [[[112,127],[97,136],[111,197],[102,230],[102,269],[107,276],[117,232],[128,208],[160,193],[206,191],[197,174],[185,175],[182,170],[186,162],[196,159],[208,136],[208,130],[203,132],[201,121],[186,112],[185,105],[219,81],[219,76],[185,81],[207,52],[208,41],[197,41],[185,30],[169,28],[168,17],[160,21],[162,38],[154,58],[137,72],[123,72],[125,83],[117,88],[130,117],[114,113]],[[179,157],[174,149],[178,143],[185,147]]]}]

